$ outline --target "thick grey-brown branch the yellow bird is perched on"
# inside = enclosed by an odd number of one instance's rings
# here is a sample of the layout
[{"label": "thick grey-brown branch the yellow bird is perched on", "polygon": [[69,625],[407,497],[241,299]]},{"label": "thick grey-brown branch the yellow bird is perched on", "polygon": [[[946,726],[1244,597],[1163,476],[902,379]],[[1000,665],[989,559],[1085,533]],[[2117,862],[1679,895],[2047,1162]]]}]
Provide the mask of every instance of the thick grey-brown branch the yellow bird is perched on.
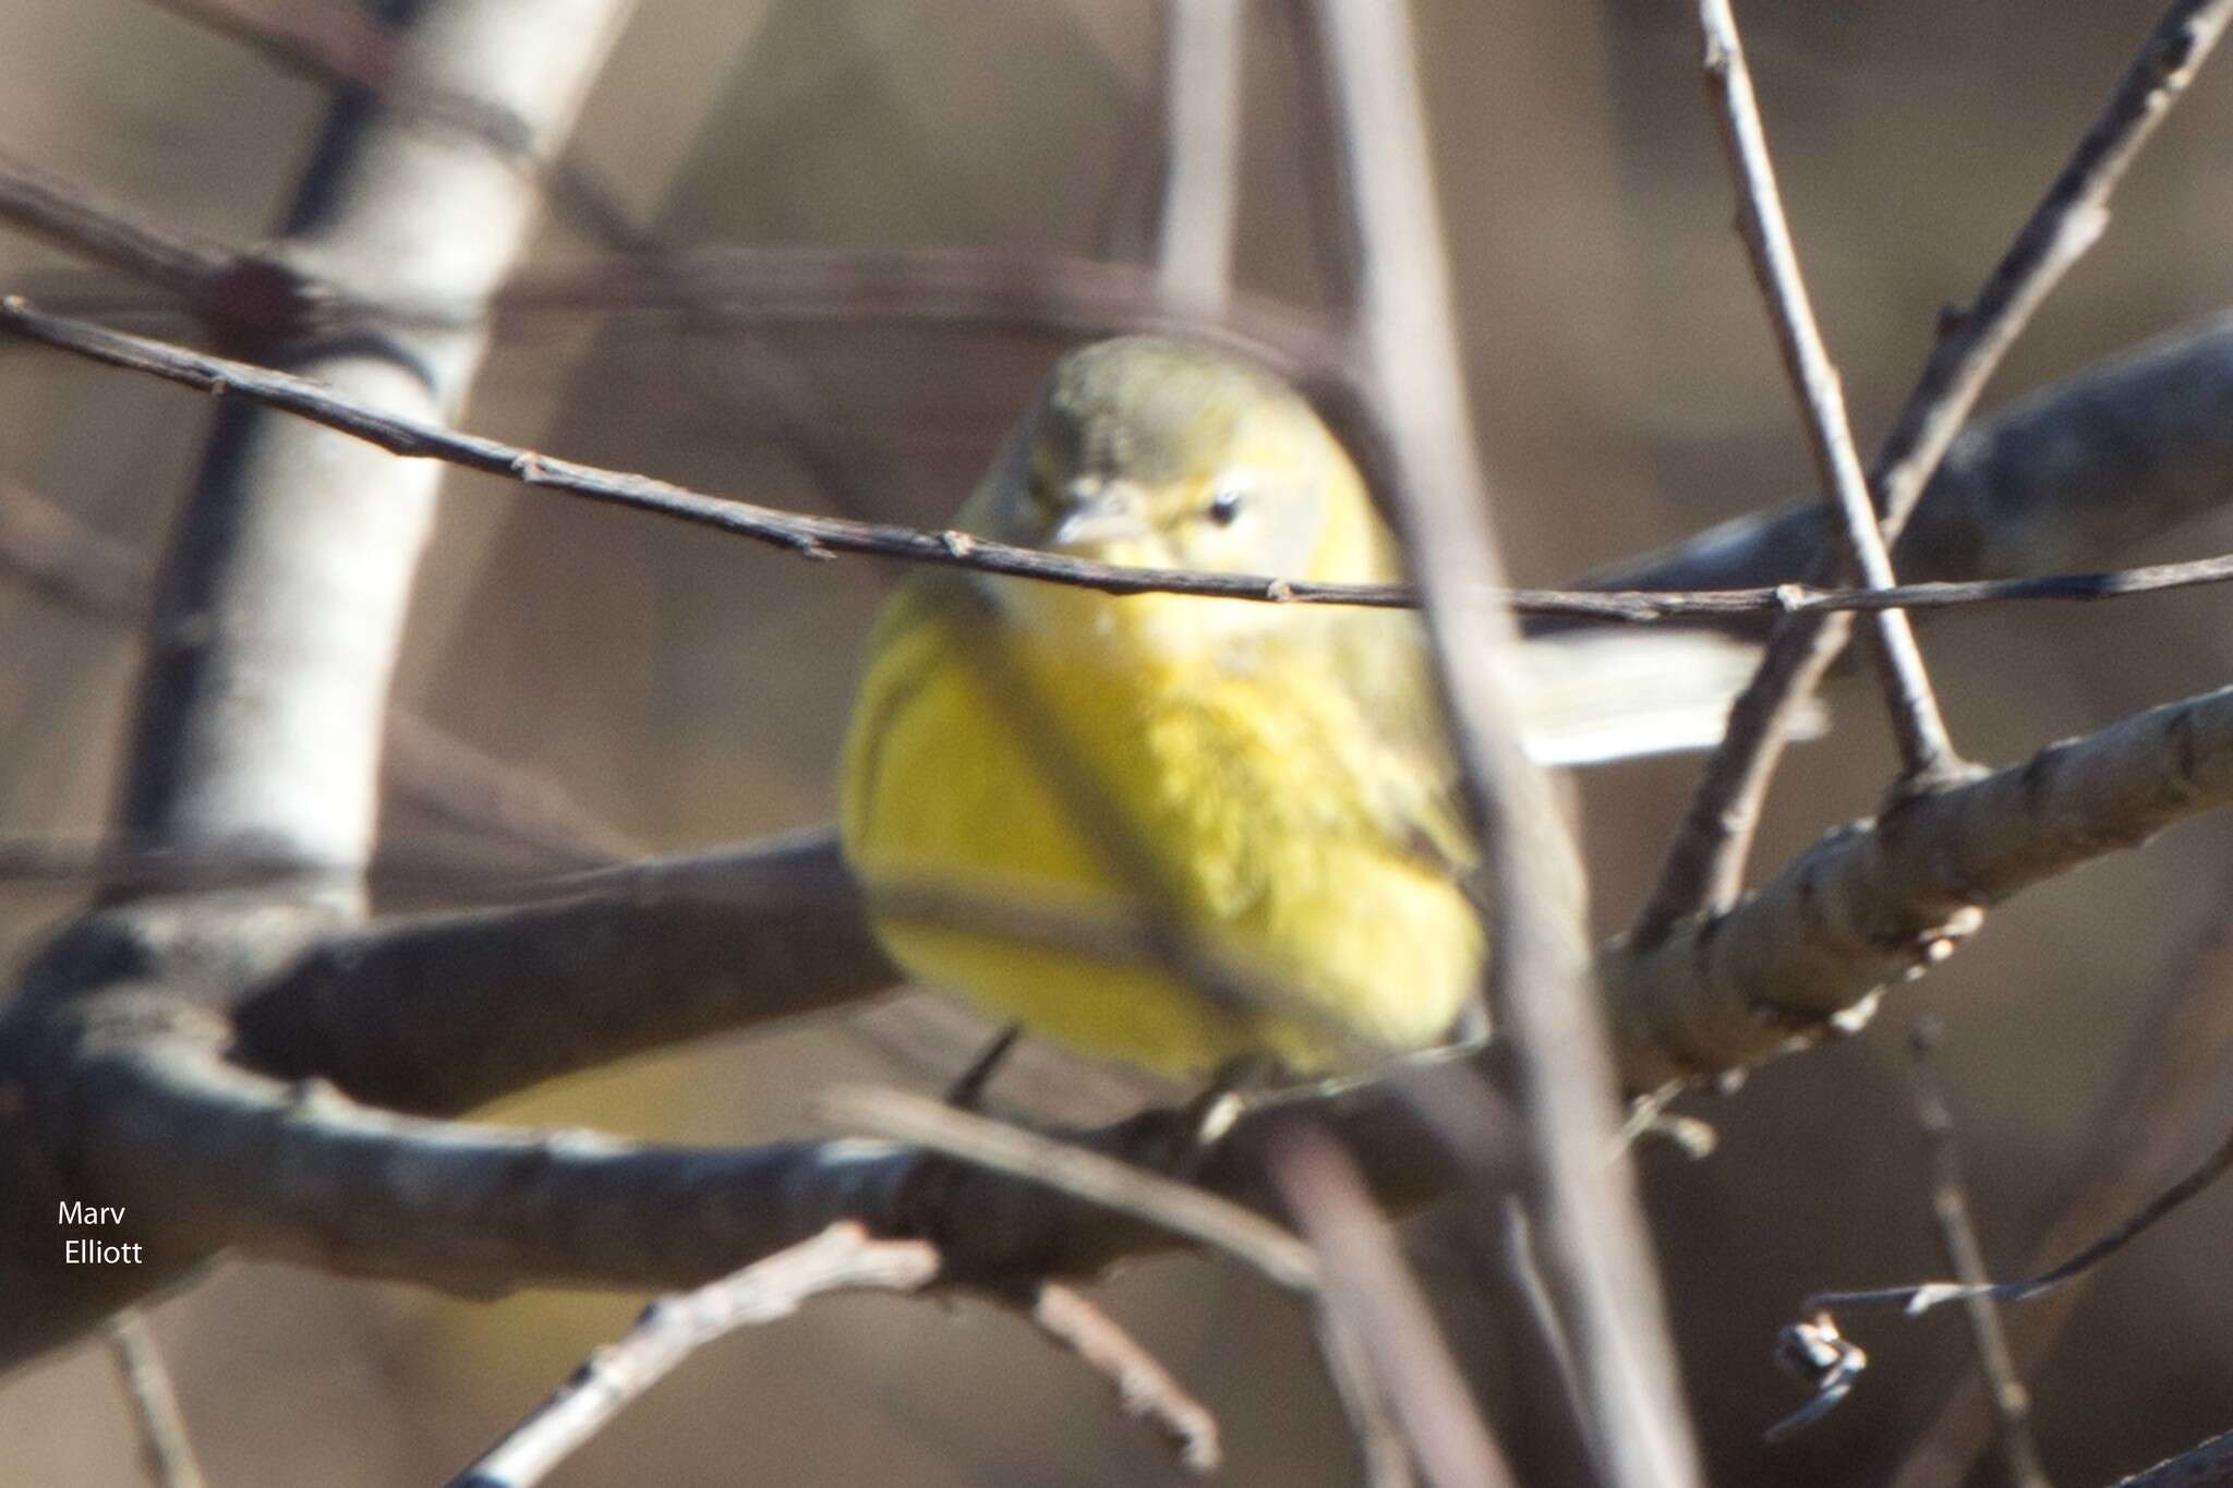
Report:
[{"label": "thick grey-brown branch the yellow bird is perched on", "polygon": [[[1623,1080],[1650,1091],[1708,1078],[1851,1026],[1882,986],[1943,955],[1976,904],[2226,801],[2233,689],[1840,830],[1719,919],[1650,950],[1603,953]],[[846,935],[873,946],[864,926]],[[125,959],[123,948],[105,955]],[[442,968],[431,973],[440,984]],[[460,1017],[471,1006],[462,997]],[[11,1359],[219,1245],[462,1289],[694,1285],[837,1218],[931,1238],[956,1278],[1081,1274],[1168,1245],[1161,1229],[1038,1182],[882,1144],[672,1151],[384,1115],[315,1082],[288,1086],[230,1064],[228,1022],[132,986],[54,1006],[33,984],[0,1033],[0,1089],[69,1078],[67,1093],[18,1107],[16,1120],[38,1122],[27,1144],[71,1194],[130,1202],[150,1225],[150,1265],[105,1283],[123,1294],[18,1287],[31,1301],[0,1336]],[[587,1044],[583,1062],[603,1062]],[[1253,1104],[1204,1153],[1199,1182],[1264,1207],[1266,1138],[1297,1111],[1358,1153],[1387,1205],[1425,1202],[1458,1178],[1413,1104],[1373,1082]],[[1494,1120],[1510,1129],[1510,1113]],[[1157,1167],[1195,1129],[1190,1115],[1163,1111],[1074,1140]],[[1498,1140],[1510,1153],[1510,1136]],[[1505,1156],[1503,1167],[1516,1162]],[[38,1234],[51,1225],[54,1182],[42,1176],[13,1196]]]}]

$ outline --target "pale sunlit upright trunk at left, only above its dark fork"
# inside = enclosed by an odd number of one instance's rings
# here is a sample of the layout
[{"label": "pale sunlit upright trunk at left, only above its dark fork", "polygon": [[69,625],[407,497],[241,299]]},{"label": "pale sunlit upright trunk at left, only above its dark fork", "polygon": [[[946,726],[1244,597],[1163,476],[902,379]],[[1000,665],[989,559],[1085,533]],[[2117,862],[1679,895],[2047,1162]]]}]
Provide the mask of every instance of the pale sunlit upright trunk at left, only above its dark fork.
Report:
[{"label": "pale sunlit upright trunk at left, only above its dark fork", "polygon": [[[563,132],[621,11],[578,4],[529,33],[507,7],[435,11],[411,33],[409,74]],[[322,281],[476,303],[505,277],[536,201],[502,165],[351,107],[328,149],[290,223]],[[366,404],[440,419],[482,348],[471,330],[397,330],[306,366]],[[150,631],[125,832],[259,841],[317,866],[368,857],[389,676],[438,480],[252,406],[219,417]]]}]

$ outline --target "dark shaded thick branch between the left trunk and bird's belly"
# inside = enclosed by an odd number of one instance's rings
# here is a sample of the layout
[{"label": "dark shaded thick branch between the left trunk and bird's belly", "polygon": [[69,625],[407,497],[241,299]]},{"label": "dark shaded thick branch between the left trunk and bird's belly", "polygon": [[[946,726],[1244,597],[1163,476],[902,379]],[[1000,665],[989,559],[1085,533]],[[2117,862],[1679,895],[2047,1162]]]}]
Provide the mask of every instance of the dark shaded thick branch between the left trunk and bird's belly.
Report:
[{"label": "dark shaded thick branch between the left trunk and bird's belly", "polygon": [[855,1002],[900,973],[826,834],[337,930],[237,1008],[259,1069],[456,1113],[560,1073]]}]

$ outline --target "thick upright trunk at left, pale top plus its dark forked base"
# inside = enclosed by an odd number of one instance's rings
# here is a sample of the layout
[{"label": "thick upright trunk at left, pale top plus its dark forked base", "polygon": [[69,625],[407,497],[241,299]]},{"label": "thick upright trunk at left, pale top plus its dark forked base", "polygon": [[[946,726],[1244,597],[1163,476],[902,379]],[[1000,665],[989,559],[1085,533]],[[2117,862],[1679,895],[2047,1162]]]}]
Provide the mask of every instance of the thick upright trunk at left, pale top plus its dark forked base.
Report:
[{"label": "thick upright trunk at left, pale top plus its dark forked base", "polygon": [[[400,67],[480,91],[534,138],[556,136],[623,11],[625,0],[525,11],[460,0],[397,29]],[[284,250],[315,261],[315,283],[471,306],[502,279],[534,210],[482,154],[389,129],[353,100],[328,120]],[[478,332],[442,328],[266,346],[364,404],[435,419],[460,406],[482,350]],[[389,680],[438,475],[252,406],[219,415],[154,607],[116,837],[281,859],[297,877],[255,892],[121,890],[40,957],[36,988],[0,1026],[0,1225],[45,1229],[58,1173],[92,1171],[145,1136],[112,1124],[127,1113],[105,1107],[116,1089],[105,1055],[152,1057],[174,1026],[230,1040],[203,1026],[197,997],[268,975],[310,924],[360,910]],[[221,1133],[223,1122],[203,1138]],[[145,1267],[107,1278],[58,1276],[45,1245],[7,1247],[0,1272],[20,1298],[7,1347],[69,1336],[208,1254],[192,1227],[156,1245]]]}]

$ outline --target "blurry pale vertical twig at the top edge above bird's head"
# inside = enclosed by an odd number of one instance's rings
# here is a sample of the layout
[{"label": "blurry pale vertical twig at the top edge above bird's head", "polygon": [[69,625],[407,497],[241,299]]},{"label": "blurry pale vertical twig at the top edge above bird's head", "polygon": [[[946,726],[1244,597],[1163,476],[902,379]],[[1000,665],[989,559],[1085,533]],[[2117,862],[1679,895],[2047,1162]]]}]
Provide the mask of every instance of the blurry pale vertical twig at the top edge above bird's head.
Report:
[{"label": "blurry pale vertical twig at the top edge above bird's head", "polygon": [[1246,0],[1163,7],[1163,207],[1154,277],[1177,310],[1219,315],[1233,292],[1239,214],[1242,11]]}]

